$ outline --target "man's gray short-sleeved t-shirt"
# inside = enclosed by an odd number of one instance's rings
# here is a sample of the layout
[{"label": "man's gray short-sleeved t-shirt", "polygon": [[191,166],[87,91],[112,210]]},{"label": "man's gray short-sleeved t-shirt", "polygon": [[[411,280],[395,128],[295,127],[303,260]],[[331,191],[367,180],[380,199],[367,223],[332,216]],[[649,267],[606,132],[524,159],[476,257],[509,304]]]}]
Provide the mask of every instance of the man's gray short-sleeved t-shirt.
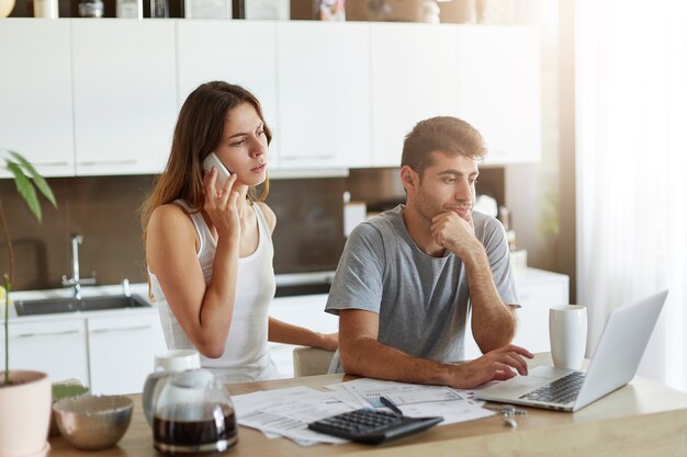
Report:
[{"label": "man's gray short-sleeved t-shirt", "polygon": [[[403,220],[404,205],[357,226],[346,242],[325,310],[363,309],[380,317],[378,341],[414,357],[463,359],[470,290],[463,262],[420,251]],[[518,304],[502,224],[473,212],[505,304]]]}]

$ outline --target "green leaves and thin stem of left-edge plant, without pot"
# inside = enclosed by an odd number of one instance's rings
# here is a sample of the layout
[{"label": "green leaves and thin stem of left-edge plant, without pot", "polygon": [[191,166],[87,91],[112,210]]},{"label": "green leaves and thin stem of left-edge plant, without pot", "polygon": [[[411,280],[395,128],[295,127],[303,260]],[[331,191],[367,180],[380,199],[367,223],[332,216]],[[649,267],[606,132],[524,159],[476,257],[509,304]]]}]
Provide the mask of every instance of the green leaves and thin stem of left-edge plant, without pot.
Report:
[{"label": "green leaves and thin stem of left-edge plant, without pot", "polygon": [[[12,173],[16,192],[26,202],[26,206],[36,217],[38,222],[43,220],[43,212],[41,210],[41,202],[36,188],[45,196],[45,198],[57,207],[55,195],[47,182],[43,179],[36,169],[19,152],[0,149],[3,168]],[[4,233],[4,240],[8,249],[9,269],[3,272],[4,285],[4,377],[0,379],[0,387],[10,385],[10,332],[9,332],[9,310],[10,310],[10,290],[12,281],[14,279],[14,249],[12,248],[12,239],[8,228],[8,221],[4,217],[2,208],[2,198],[0,197],[0,228]]]}]

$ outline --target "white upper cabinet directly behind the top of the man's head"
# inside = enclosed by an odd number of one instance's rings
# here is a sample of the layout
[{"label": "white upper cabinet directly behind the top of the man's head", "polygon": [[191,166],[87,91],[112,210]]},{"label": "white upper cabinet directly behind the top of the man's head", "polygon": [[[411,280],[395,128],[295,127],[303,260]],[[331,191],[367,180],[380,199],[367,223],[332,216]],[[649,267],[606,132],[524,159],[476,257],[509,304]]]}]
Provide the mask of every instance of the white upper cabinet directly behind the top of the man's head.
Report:
[{"label": "white upper cabinet directly behind the top of the man's head", "polygon": [[484,136],[486,164],[540,158],[537,31],[516,26],[373,24],[374,167],[398,167],[421,119],[458,116]]}]

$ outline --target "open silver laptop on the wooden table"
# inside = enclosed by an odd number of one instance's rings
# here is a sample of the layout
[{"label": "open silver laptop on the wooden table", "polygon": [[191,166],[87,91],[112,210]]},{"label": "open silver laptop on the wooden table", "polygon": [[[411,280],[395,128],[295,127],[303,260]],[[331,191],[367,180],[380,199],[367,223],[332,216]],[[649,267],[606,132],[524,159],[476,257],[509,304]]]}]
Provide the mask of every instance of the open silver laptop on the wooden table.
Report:
[{"label": "open silver laptop on the wooden table", "polygon": [[480,400],[577,411],[628,384],[637,373],[667,290],[615,309],[586,372],[540,366],[475,389]]}]

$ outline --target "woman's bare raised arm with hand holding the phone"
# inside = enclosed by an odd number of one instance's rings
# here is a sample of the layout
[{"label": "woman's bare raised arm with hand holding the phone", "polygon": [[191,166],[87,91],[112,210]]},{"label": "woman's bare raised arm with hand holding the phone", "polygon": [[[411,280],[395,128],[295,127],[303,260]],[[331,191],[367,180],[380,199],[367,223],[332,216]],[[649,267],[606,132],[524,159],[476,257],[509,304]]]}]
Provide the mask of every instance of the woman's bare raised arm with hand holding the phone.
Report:
[{"label": "woman's bare raised arm with hand holding the phone", "polygon": [[[157,276],[174,317],[193,345],[214,358],[224,353],[236,297],[240,228],[236,196],[229,198],[235,194],[229,192],[234,180],[225,183],[224,196],[211,198],[204,207],[217,230],[210,284],[205,284],[198,261],[200,240],[185,210],[173,204],[155,209],[146,239],[148,267]],[[214,179],[206,176],[204,185],[214,185]]]}]

